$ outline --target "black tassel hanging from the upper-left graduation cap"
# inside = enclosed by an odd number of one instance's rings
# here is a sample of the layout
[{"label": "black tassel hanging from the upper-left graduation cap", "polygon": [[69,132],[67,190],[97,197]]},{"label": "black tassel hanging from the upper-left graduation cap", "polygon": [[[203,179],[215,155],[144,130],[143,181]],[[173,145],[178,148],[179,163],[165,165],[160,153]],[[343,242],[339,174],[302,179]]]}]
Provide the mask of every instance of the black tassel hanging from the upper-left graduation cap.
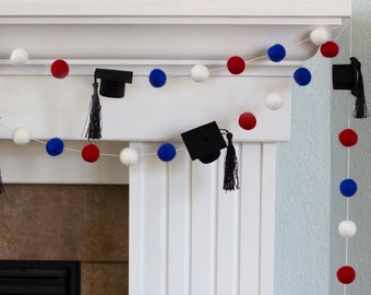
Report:
[{"label": "black tassel hanging from the upper-left graduation cap", "polygon": [[94,93],[92,95],[89,123],[85,135],[89,140],[101,138],[101,118],[100,118],[101,106],[98,95],[98,83],[96,81],[93,83],[93,87]]}]

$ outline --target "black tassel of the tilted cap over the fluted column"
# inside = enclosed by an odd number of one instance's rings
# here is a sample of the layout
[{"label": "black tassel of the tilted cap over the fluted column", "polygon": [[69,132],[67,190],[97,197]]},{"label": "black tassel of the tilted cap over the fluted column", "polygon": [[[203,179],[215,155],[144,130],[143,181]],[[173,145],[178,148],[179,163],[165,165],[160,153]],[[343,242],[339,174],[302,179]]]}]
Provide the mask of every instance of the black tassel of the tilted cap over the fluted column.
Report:
[{"label": "black tassel of the tilted cap over the fluted column", "polygon": [[228,146],[226,160],[224,162],[224,190],[236,190],[240,188],[238,178],[238,161],[236,150],[232,143],[232,133],[227,132]]}]

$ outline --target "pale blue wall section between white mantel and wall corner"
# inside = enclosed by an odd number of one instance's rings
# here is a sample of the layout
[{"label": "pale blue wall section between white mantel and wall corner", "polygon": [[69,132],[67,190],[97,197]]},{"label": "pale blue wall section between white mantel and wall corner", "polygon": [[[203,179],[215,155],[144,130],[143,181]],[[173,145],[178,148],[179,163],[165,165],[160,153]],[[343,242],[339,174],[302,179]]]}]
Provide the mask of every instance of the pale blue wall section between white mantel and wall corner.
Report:
[{"label": "pale blue wall section between white mantel and wall corner", "polygon": [[277,148],[275,294],[327,294],[331,69],[316,55],[306,87],[292,84],[291,140]]}]

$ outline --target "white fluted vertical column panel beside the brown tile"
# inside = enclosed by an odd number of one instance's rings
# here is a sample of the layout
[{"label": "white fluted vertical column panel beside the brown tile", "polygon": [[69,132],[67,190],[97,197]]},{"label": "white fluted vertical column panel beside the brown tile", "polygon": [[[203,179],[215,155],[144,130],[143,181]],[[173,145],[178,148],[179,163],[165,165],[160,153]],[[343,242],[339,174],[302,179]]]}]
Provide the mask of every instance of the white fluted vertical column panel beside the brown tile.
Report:
[{"label": "white fluted vertical column panel beside the brown tile", "polygon": [[164,163],[158,143],[130,169],[130,295],[273,295],[275,145],[235,144],[241,189],[223,190],[224,153]]}]

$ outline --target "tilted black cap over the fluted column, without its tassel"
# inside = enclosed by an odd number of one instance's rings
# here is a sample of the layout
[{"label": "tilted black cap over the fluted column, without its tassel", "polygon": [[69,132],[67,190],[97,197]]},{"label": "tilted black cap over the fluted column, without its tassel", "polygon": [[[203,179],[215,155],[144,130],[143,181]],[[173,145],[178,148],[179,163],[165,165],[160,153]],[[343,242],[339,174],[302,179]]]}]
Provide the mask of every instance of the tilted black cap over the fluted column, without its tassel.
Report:
[{"label": "tilted black cap over the fluted column, without its tassel", "polygon": [[220,129],[215,121],[181,133],[192,160],[208,164],[217,160],[220,150],[227,148]]}]

